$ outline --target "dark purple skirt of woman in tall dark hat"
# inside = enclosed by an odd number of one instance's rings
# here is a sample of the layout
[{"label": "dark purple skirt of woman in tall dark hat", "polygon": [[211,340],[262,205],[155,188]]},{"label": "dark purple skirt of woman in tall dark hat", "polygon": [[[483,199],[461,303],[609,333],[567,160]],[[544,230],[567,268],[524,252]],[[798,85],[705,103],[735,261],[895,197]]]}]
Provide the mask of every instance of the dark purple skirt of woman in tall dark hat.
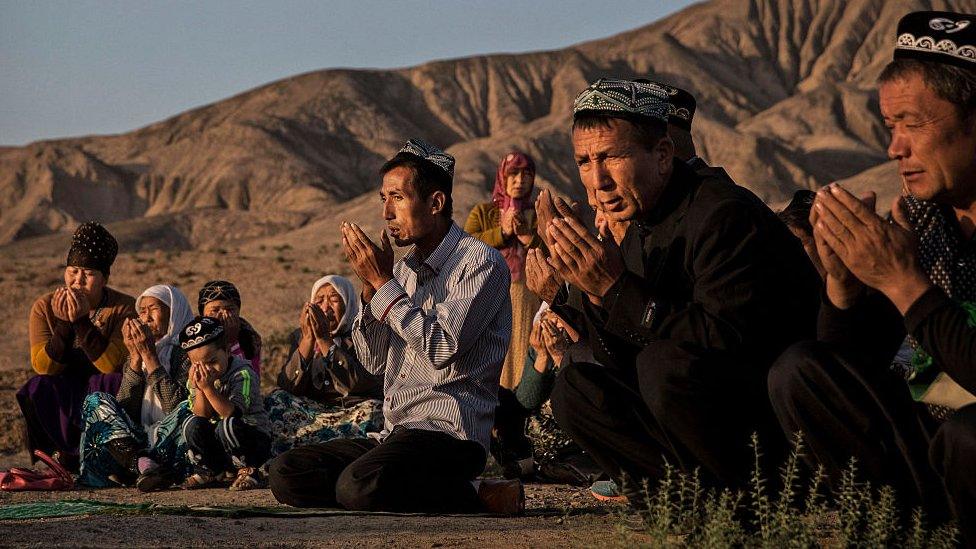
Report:
[{"label": "dark purple skirt of woman in tall dark hat", "polygon": [[103,374],[91,364],[68,364],[58,375],[39,375],[17,391],[17,402],[27,423],[27,452],[61,452],[68,469],[78,469],[81,443],[81,405],[95,392],[116,394],[122,374]]}]

